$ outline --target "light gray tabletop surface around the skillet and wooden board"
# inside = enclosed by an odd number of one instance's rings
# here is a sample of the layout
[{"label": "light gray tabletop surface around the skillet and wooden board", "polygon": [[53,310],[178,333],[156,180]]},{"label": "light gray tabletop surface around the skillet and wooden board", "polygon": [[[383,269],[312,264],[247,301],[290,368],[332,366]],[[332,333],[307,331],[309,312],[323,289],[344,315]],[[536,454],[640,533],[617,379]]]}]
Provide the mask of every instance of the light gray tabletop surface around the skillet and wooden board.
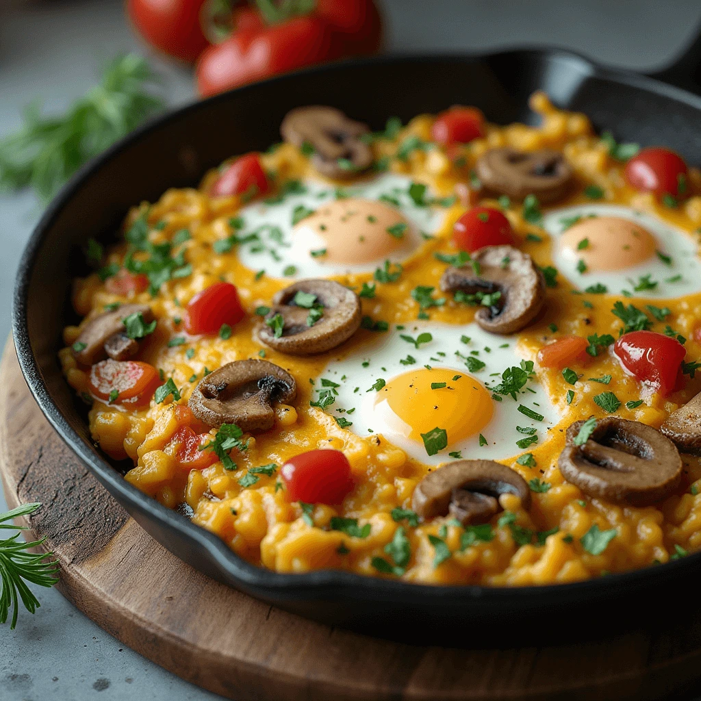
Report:
[{"label": "light gray tabletop surface around the skillet and wooden board", "polygon": [[[130,32],[122,0],[0,0],[0,137],[36,97],[66,107],[118,53],[147,50]],[[698,0],[386,0],[388,49],[480,50],[548,44],[599,62],[650,71],[692,39]],[[191,74],[154,57],[172,105],[193,100]],[[222,154],[222,158],[227,154]],[[0,195],[0,338],[22,247],[41,214],[29,193]],[[1,391],[1,390],[0,390]],[[4,501],[0,494],[0,511]],[[185,701],[215,699],[151,664],[93,624],[53,590],[41,608],[0,627],[0,701]]]}]

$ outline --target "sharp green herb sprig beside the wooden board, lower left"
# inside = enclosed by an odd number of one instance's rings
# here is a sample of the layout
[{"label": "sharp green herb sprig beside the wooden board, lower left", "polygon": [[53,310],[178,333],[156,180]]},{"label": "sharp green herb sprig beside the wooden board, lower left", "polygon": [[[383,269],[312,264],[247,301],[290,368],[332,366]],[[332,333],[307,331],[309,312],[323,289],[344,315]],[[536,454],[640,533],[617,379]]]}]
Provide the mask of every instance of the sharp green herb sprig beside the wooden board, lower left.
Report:
[{"label": "sharp green herb sprig beside the wooden board, lower left", "polygon": [[[40,506],[40,503],[23,504],[16,509],[0,514],[0,529],[27,530],[25,526],[15,526],[12,519],[32,514]],[[58,563],[55,560],[47,559],[53,555],[53,552],[40,552],[39,554],[28,552],[29,548],[41,545],[44,540],[45,538],[41,538],[41,540],[34,540],[32,543],[25,543],[24,540],[20,540],[19,532],[10,538],[0,539],[0,584],[2,585],[0,589],[0,623],[7,621],[10,607],[12,607],[11,630],[17,625],[20,599],[29,613],[34,613],[39,608],[39,601],[25,580],[40,587],[53,587],[58,581],[54,576],[59,570]]]}]

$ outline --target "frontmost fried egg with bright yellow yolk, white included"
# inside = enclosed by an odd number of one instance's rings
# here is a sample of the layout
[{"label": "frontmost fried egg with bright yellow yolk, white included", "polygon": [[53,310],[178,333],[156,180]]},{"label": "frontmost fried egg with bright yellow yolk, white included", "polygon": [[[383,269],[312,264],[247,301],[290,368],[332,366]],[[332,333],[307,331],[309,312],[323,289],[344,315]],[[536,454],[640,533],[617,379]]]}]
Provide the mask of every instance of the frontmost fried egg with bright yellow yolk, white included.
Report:
[{"label": "frontmost fried egg with bright yellow yolk, white included", "polygon": [[475,323],[417,322],[331,360],[316,397],[330,392],[325,410],[341,426],[381,434],[421,463],[503,460],[545,442],[560,418],[534,374],[514,396],[502,393],[503,372],[521,369],[521,358],[515,339]]}]

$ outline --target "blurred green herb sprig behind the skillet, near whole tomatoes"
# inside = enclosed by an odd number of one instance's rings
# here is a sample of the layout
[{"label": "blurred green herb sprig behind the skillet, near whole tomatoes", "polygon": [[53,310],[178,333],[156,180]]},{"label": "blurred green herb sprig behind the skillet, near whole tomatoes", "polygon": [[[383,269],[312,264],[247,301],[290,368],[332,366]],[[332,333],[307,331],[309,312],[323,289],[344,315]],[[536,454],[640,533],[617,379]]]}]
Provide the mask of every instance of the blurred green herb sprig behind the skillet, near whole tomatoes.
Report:
[{"label": "blurred green herb sprig behind the skillet, near whole tomatoes", "polygon": [[111,62],[99,85],[61,116],[43,116],[34,102],[24,125],[0,141],[0,187],[31,187],[48,200],[81,165],[127,135],[163,107],[147,88],[156,76],[142,57],[128,54]]}]

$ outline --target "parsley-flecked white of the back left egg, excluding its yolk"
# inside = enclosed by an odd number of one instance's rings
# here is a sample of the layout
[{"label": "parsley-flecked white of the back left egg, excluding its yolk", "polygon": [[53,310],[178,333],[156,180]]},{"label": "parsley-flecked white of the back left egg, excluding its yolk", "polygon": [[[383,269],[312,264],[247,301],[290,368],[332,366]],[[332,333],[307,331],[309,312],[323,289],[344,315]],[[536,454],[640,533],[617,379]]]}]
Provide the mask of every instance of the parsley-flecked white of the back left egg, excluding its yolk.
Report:
[{"label": "parsley-flecked white of the back left egg, excluding its yolk", "polygon": [[[336,189],[333,186],[313,179],[301,181],[305,191],[289,193],[281,202],[259,200],[239,210],[238,217],[243,220],[243,226],[238,229],[238,236],[245,238],[257,232],[258,238],[238,246],[238,259],[251,270],[266,271],[268,277],[290,280],[367,273],[381,266],[386,259],[401,262],[421,245],[421,233],[435,233],[444,219],[442,207],[420,207],[414,203],[409,197],[412,182],[411,178],[404,175],[384,173],[341,188],[348,197],[379,200],[382,195],[386,195],[398,201],[397,211],[406,217],[409,229],[404,234],[404,245],[383,256],[381,260],[355,266],[324,262],[322,258],[315,258],[311,254],[312,251],[325,247],[324,239],[308,229],[293,234],[292,217],[295,207],[302,205],[308,210],[317,210],[321,205],[336,199]],[[384,202],[393,206],[387,200]]]}]

